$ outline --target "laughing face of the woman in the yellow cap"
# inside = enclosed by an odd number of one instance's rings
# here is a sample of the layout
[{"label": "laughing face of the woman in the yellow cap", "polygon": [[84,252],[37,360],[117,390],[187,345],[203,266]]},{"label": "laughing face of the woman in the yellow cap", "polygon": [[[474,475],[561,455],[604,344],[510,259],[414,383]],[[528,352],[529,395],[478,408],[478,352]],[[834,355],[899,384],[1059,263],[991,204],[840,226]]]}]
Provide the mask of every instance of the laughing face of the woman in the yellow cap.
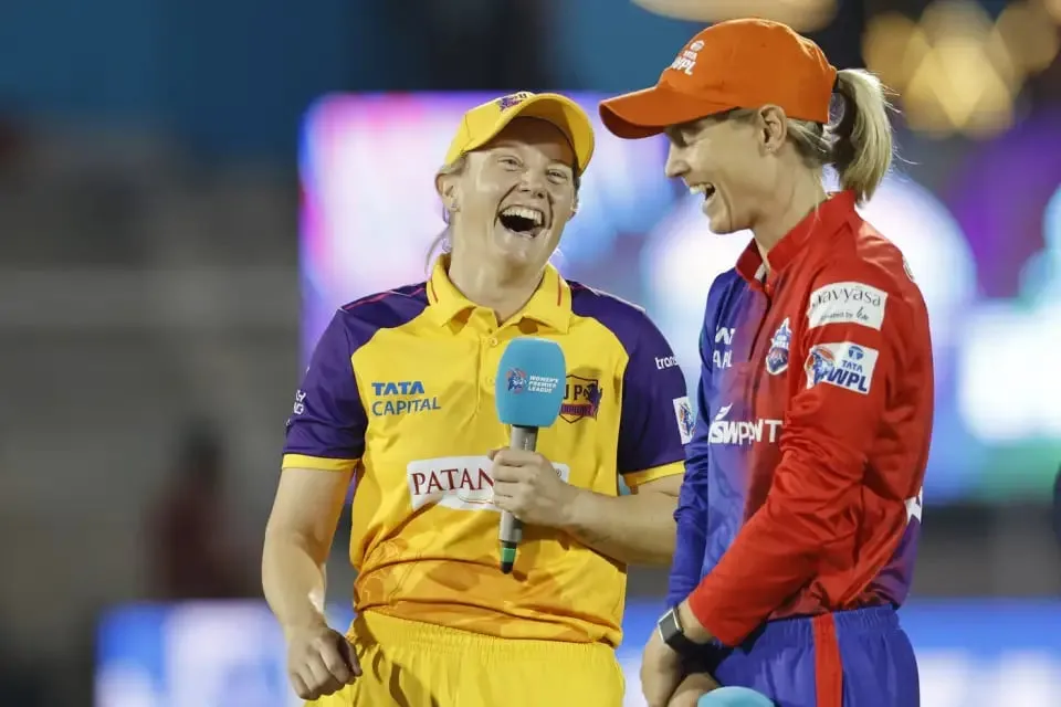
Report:
[{"label": "laughing face of the woman in the yellow cap", "polygon": [[574,214],[575,154],[549,123],[516,118],[466,156],[464,169],[440,175],[461,257],[542,268]]}]

